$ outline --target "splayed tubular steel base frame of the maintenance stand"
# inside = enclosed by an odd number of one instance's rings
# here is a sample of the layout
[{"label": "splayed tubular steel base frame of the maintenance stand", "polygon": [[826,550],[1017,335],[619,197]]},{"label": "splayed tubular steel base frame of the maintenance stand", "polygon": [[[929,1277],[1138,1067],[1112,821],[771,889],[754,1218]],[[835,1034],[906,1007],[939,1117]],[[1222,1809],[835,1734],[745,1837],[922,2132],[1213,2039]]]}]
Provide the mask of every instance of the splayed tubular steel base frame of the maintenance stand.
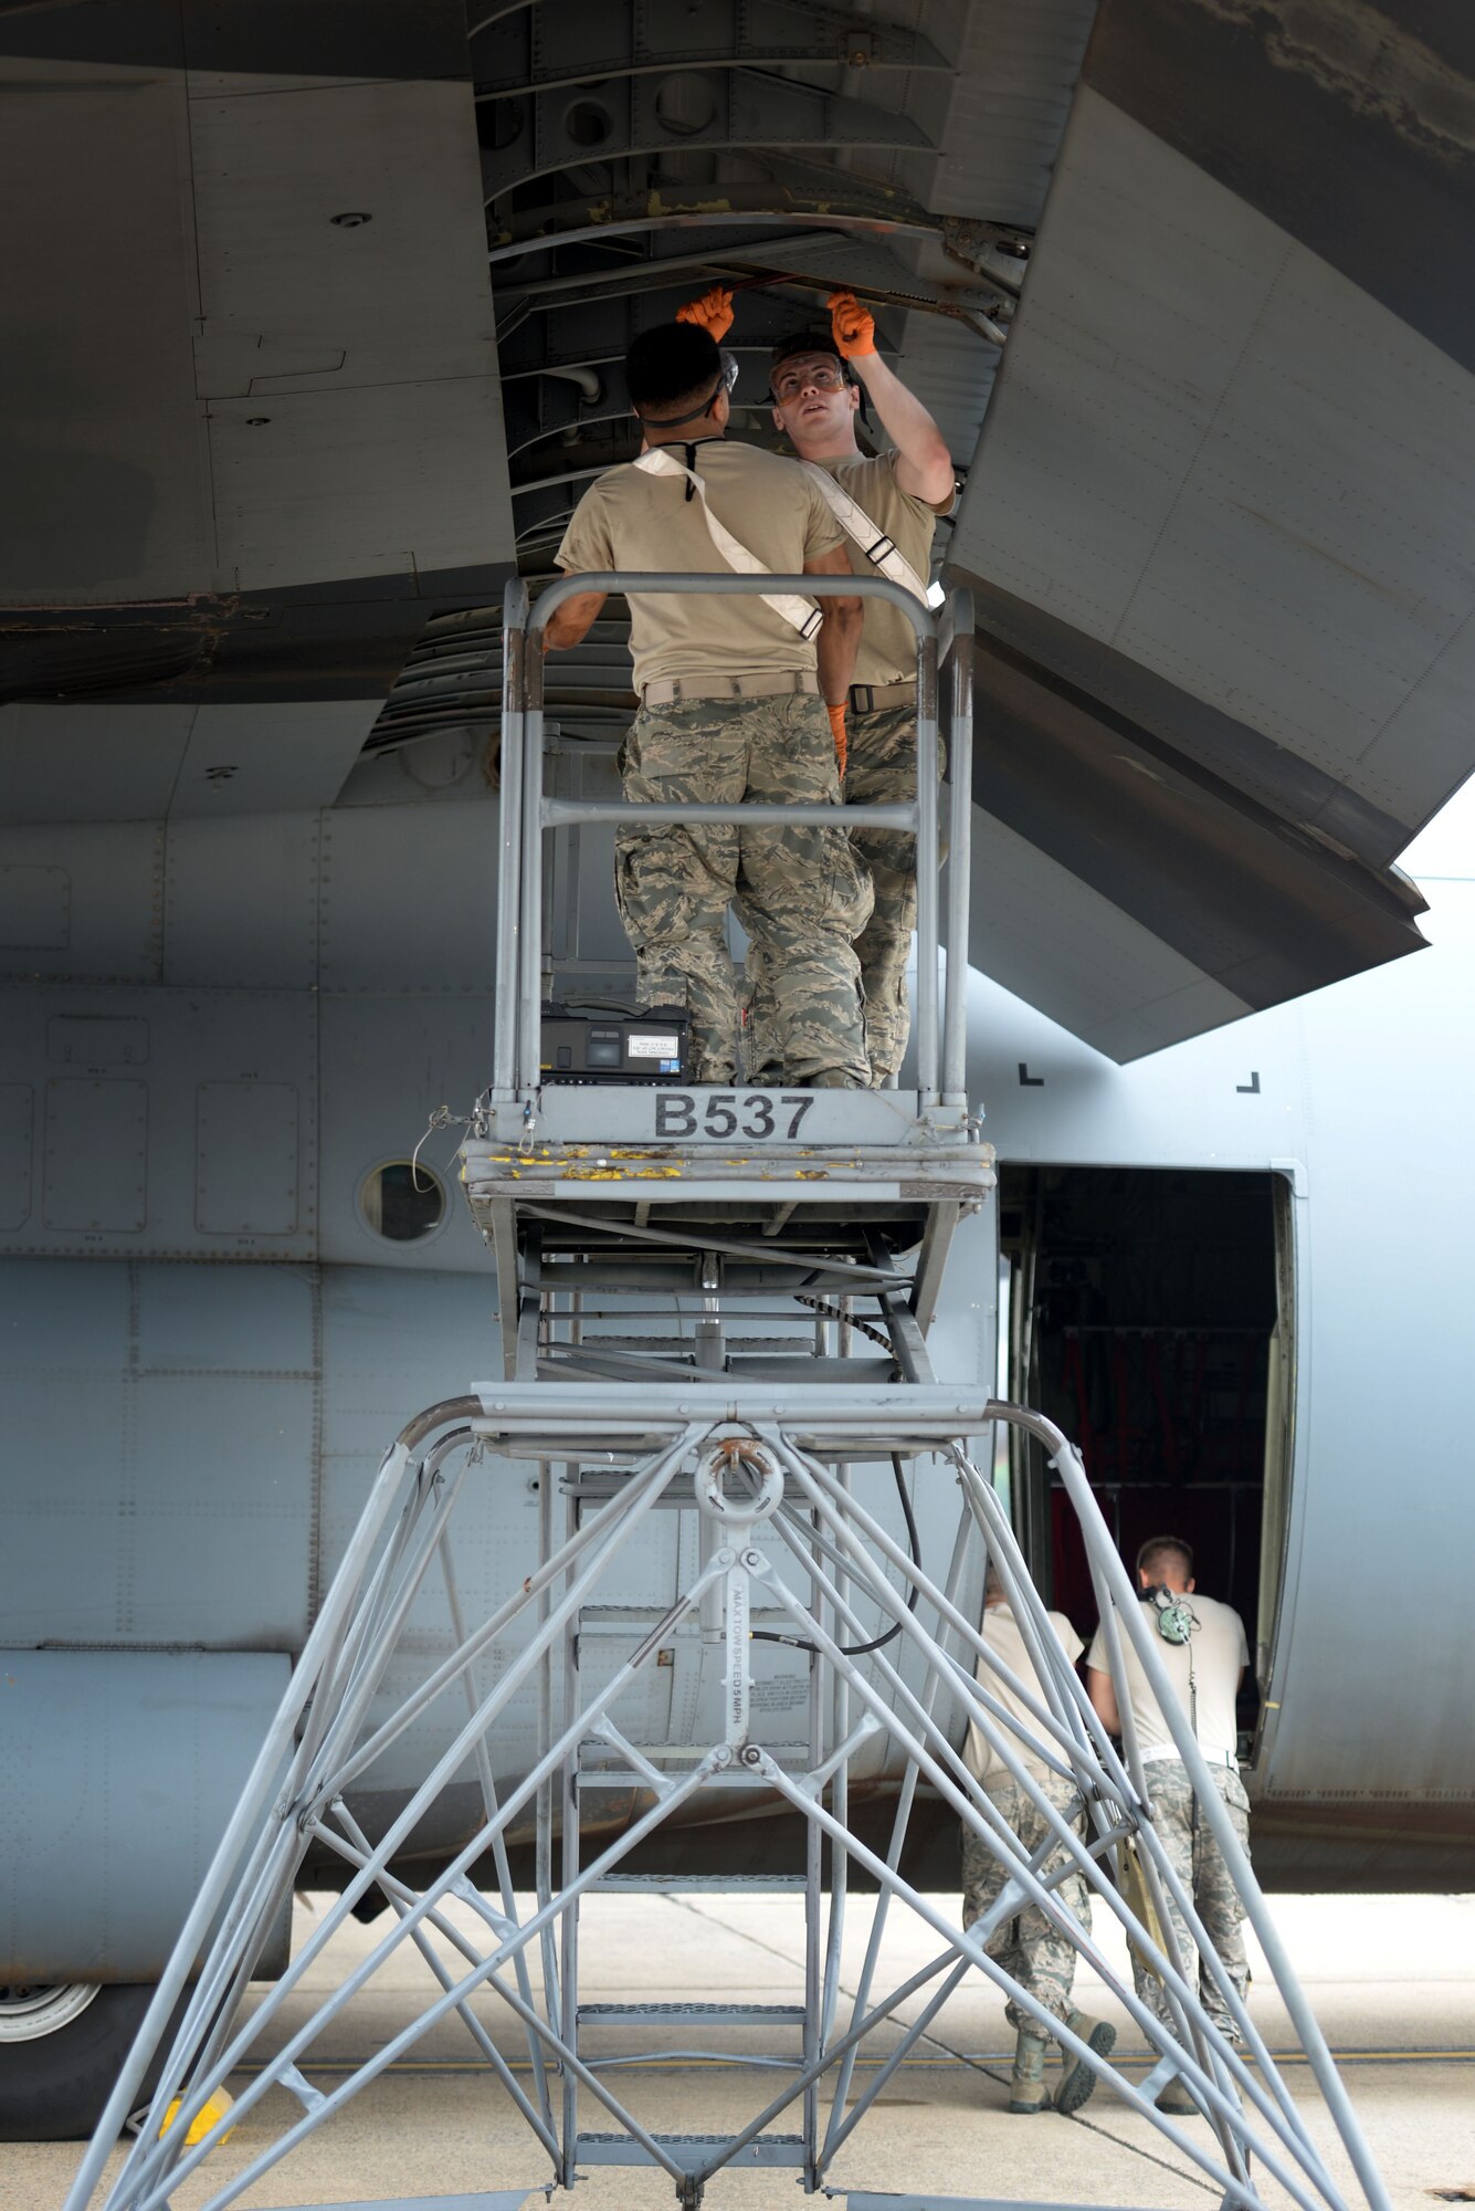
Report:
[{"label": "splayed tubular steel base frame of the maintenance stand", "polygon": [[[124,2211],[124,2207],[126,2211],[168,2211],[170,2193],[210,2158],[223,2134],[261,2105],[269,2089],[285,2087],[303,2105],[303,2114],[208,2198],[205,2211],[225,2211],[225,2204],[267,2173],[296,2142],[331,2118],[386,2065],[404,2056],[424,2032],[448,2016],[461,2019],[488,2072],[501,2081],[528,2120],[532,2136],[550,2158],[554,2182],[567,2184],[574,2178],[581,2136],[570,2085],[576,2083],[607,2109],[620,2134],[651,2165],[667,2171],[678,2200],[687,2204],[700,2202],[704,2182],[724,2165],[742,2160],[744,2154],[749,2154],[749,2162],[753,2156],[762,2160],[766,2127],[773,2118],[793,2103],[808,2105],[810,2116],[799,2140],[804,2178],[817,2187],[863,2112],[881,2094],[885,2081],[927,2030],[969,1966],[987,1974],[1002,1994],[1014,1997],[1128,2109],[1168,2136],[1181,2156],[1221,2189],[1223,2204],[1245,2207],[1245,2211],[1263,2204],[1250,2165],[1256,2158],[1303,2211],[1318,2211],[1318,2207],[1343,2211],[1349,2198],[1327,2171],[1254,2021],[1217,1959],[1192,1897],[1155,1835],[1135,1744],[1128,1740],[1126,1760],[1113,1751],[1075,1672],[1064,1663],[1053,1641],[1044,1605],[1029,1581],[998,1497],[956,1442],[958,1428],[976,1433],[991,1422],[1018,1424],[1036,1435],[1064,1484],[1097,1579],[1102,1618],[1108,1623],[1113,1643],[1117,1696],[1126,1698],[1122,1652],[1131,1643],[1164,1714],[1170,1718],[1179,1756],[1199,1791],[1203,1817],[1241,1884],[1250,1924],[1338,2125],[1362,2184],[1362,2200],[1373,2211],[1384,2211],[1387,2196],[1362,2145],[1336,2067],[1290,1972],[1274,1921],[1195,1736],[1168,1691],[1142,1607],[1111,1545],[1073,1446],[1033,1413],[985,1400],[967,1404],[958,1393],[936,1386],[908,1386],[901,1393],[883,1389],[846,1393],[850,1402],[843,1408],[832,1402],[835,1395],[826,1386],[775,1389],[764,1393],[766,1402],[740,1413],[731,1391],[720,1386],[665,1386],[643,1393],[638,1424],[627,1422],[625,1426],[634,1433],[620,1437],[612,1435],[612,1426],[620,1424],[612,1424],[605,1411],[607,1391],[598,1384],[506,1384],[497,1386],[495,1395],[488,1391],[479,1400],[437,1406],[400,1437],[380,1468],[349,1557],[327,1594],[311,1645],[272,1722],[247,1793],[216,1853],[132,2061],[119,2078],[104,2127],[77,2173],[68,2211],[84,2211],[91,2202],[106,2151],[137,2094],[144,2061],[188,1981],[205,1930],[216,1921],[219,1932],[205,1948],[203,1972],[170,2047],[139,2138],[106,2196],[113,2211]],[[843,1473],[832,1464],[874,1457],[877,1450],[885,1448],[899,1424],[892,1422],[888,1428],[883,1402],[896,1395],[910,1400],[905,1442],[912,1450],[932,1444],[961,1492],[958,1539],[945,1585],[932,1581],[859,1506]],[[435,1437],[431,1448],[415,1457],[417,1444],[431,1435]],[[514,1453],[519,1459],[537,1457],[548,1468],[552,1457],[567,1457],[570,1448],[576,1450],[579,1444],[583,1444],[585,1457],[598,1448],[601,1455],[607,1453],[616,1461],[609,1495],[548,1550],[537,1570],[490,1618],[470,1632],[459,1616],[455,1574],[446,1574],[448,1625],[455,1647],[450,1656],[428,1667],[424,1680],[404,1694],[364,1740],[369,1702],[375,1691],[382,1691],[391,1658],[400,1654],[404,1660],[400,1641],[411,1603],[422,1590],[431,1563],[439,1559],[444,1565],[450,1557],[457,1499],[464,1495],[468,1477],[479,1473],[488,1446]],[[455,1473],[446,1473],[457,1455],[461,1464]],[[486,1479],[486,1475],[479,1477]],[[638,1636],[609,1680],[587,1694],[574,1711],[552,1714],[548,1747],[517,1789],[499,1800],[486,1758],[488,1733],[499,1714],[526,1683],[537,1678],[541,1663],[561,1647],[581,1607],[594,1601],[618,1554],[638,1537],[647,1515],[676,1499],[696,1503],[698,1512],[711,1521],[713,1543],[704,1563],[687,1581],[669,1612]],[[751,1537],[760,1521],[773,1521],[782,1539],[784,1572],[775,1570],[771,1557],[753,1548]],[[1005,1583],[1036,1660],[1038,1685],[1018,1680],[954,1603],[969,1541],[983,1543]],[[726,1727],[720,1740],[704,1749],[693,1747],[698,1756],[685,1758],[680,1771],[669,1771],[627,1740],[616,1707],[636,1676],[651,1665],[676,1623],[700,1612],[713,1592],[726,1645]],[[777,1605],[793,1623],[793,1632],[815,1647],[810,1663],[821,1678],[821,1691],[815,1698],[821,1740],[810,1744],[808,1764],[799,1769],[775,1758],[751,1736],[749,1607],[755,1592]],[[908,1610],[912,1592],[916,1610]],[[885,1654],[872,1652],[866,1663],[846,1656],[841,1636],[870,1634],[877,1616],[899,1625],[903,1638],[921,1654],[927,1680],[921,1696]],[[477,1687],[477,1667],[488,1663],[495,1685],[484,1694]],[[1031,1725],[1014,1720],[1009,1709],[989,1694],[991,1678],[998,1678],[1025,1702]],[[1025,1853],[991,1798],[965,1767],[952,1733],[938,1725],[934,1702],[941,1687],[965,1705],[967,1716],[978,1725],[1016,1786],[1044,1820],[1049,1840],[1033,1857]],[[832,1694],[837,1689],[843,1689],[839,1700]],[[464,1725],[386,1833],[369,1842],[344,1802],[347,1793],[362,1782],[373,1762],[422,1711],[448,1694],[464,1696]],[[877,1731],[890,1738],[905,1767],[885,1857],[861,1844],[843,1817],[846,1762]],[[565,1864],[561,1886],[550,1890],[537,1910],[519,1919],[506,1875],[508,1831],[517,1826],[550,1782],[563,1802],[570,1800],[579,1789],[581,1751],[594,1751],[603,1762],[614,1760],[616,1769],[627,1780],[636,1780],[649,1795],[649,1809],[623,1835],[605,1844],[590,1864]],[[1084,1813],[1080,1824],[1053,1806],[1031,1767],[1022,1762],[1022,1753],[1044,1762],[1051,1773],[1073,1780]],[[433,1811],[442,1789],[466,1760],[475,1760],[479,1771],[486,1822],[442,1873],[422,1888],[413,1888],[395,1875],[395,1853]],[[601,1764],[601,1771],[609,1773],[612,1769]],[[718,1775],[729,1789],[749,1786],[784,1798],[804,1817],[810,1833],[832,1844],[837,1862],[855,1862],[879,1884],[881,1899],[848,2016],[839,2012],[832,1970],[837,1935],[832,1928],[824,2001],[793,2076],[740,2134],[720,2142],[673,2140],[647,2129],[614,2094],[601,2067],[579,2050],[576,2027],[570,2019],[576,1979],[567,1948],[570,1915],[579,1899],[605,1879],[647,1833]],[[965,1826],[980,1835],[1007,1871],[1000,1897],[967,1932],[949,1919],[934,1897],[921,1895],[896,1871],[919,1782],[925,1782]],[[1175,1952],[1172,1937],[1166,1935],[1159,1948],[1115,1886],[1113,1868],[1128,1837],[1135,1842],[1155,1893],[1159,1924],[1168,1928],[1164,1904],[1172,1899],[1190,1930],[1197,1959],[1190,1961],[1188,1972]],[[344,1862],[347,1886],[294,1957],[285,1977],[267,1990],[254,2014],[236,2030],[234,2014],[252,1966],[269,1943],[283,1904],[291,1895],[294,1877],[314,1844],[325,1844]],[[495,1899],[470,1884],[473,1864],[488,1853],[499,1868]],[[1051,1859],[1055,1862],[1051,1864]],[[1157,2019],[1135,1988],[1106,1961],[1091,1932],[1058,1901],[1055,1888],[1067,1873],[1080,1873],[1097,1906],[1126,1928],[1133,1946],[1146,1957],[1168,1994],[1177,2032]],[[287,2036],[280,2052],[254,2058],[265,2030],[287,1999],[300,1994],[305,1974],[329,1937],[373,1886],[393,1908],[391,1930],[349,1979],[331,1990],[309,2019]],[[843,1888],[839,1895],[843,1897]],[[475,1939],[446,1917],[444,1906],[450,1901],[470,1908],[477,1924]],[[941,1950],[921,1972],[910,1974],[899,1988],[877,1999],[874,1972],[892,1904],[905,1904],[921,1924],[930,1926]],[[991,1932],[1025,1904],[1033,1904],[1051,1926],[1069,1937],[1157,2052],[1157,2065],[1137,2087],[1053,2019],[1029,1990],[989,1957],[985,1943]],[[442,1948],[431,1937],[439,1937]],[[548,2019],[534,2005],[528,1970],[530,1948],[534,1943],[541,1948],[545,1937],[552,1939],[561,1988],[559,2003],[550,1985]],[[331,2094],[309,2087],[300,2065],[311,2067],[311,2043],[404,1941],[413,1941],[431,1961],[439,1994]],[[453,1970],[446,1950],[459,1959],[464,1972]],[[1197,1990],[1199,1966],[1214,1977],[1254,2069],[1248,2056],[1203,2012]],[[874,2061],[872,2081],[855,2107],[846,2112],[855,2058],[863,2043],[896,2014],[899,2005],[930,1983],[938,1985],[901,2039]],[[495,1994],[521,2025],[530,2054],[532,2094],[510,2072],[486,2030],[486,2021],[475,2010],[479,1992]],[[192,2120],[247,2061],[258,2063],[261,2069],[241,2089],[234,2107],[194,2147],[185,2147]],[[550,2085],[554,2067],[565,2083],[563,2114],[554,2109]],[[828,2116],[819,2127],[817,2089],[826,2074],[835,2074],[835,2083]],[[1175,2076],[1181,2078],[1208,2118],[1212,2147],[1155,2109],[1155,2092]],[[183,2100],[179,2118],[159,2134],[163,2114],[177,2096]],[[570,2123],[574,2125],[572,2136]],[[779,2145],[790,2140],[777,2138]]]}]

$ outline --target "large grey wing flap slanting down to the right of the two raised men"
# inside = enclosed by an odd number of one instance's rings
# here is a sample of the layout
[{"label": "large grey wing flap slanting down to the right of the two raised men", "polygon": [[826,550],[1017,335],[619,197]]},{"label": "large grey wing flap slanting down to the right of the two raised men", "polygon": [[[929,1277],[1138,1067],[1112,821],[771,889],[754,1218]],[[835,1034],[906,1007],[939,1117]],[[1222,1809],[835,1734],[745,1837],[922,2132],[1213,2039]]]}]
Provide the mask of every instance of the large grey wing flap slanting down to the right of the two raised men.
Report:
[{"label": "large grey wing flap slanting down to the right of the two raised men", "polygon": [[1453,7],[1100,9],[949,557],[974,960],[1115,1059],[1422,942],[1391,862],[1475,767],[1471,64]]}]

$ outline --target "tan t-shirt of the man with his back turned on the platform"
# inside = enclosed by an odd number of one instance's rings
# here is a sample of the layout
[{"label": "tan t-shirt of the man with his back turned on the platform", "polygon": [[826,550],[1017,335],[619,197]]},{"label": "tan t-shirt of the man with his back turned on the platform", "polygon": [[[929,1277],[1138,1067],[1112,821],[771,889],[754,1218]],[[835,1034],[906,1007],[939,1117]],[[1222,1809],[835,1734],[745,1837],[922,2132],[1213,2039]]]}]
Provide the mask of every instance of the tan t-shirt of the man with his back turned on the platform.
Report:
[{"label": "tan t-shirt of the man with his back turned on the platform", "polygon": [[[799,575],[806,559],[846,542],[819,484],[793,460],[726,438],[669,451],[702,478],[718,522],[775,575]],[[592,568],[731,575],[689,489],[685,475],[645,475],[629,462],[609,469],[574,509],[559,566],[574,575]],[[813,639],[806,643],[760,597],[735,593],[629,593],[629,652],[636,690],[671,677],[815,672]]]}]

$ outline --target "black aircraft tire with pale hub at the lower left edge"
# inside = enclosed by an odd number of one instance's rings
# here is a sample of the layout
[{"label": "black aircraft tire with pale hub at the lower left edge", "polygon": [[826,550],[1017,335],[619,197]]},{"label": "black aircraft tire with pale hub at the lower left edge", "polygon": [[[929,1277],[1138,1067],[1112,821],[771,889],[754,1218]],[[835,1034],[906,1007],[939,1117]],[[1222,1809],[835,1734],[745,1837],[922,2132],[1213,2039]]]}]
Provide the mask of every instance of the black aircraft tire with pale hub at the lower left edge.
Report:
[{"label": "black aircraft tire with pale hub at the lower left edge", "polygon": [[[84,2140],[102,2118],[150,1997],[150,1983],[0,1985],[0,2142]],[[144,2083],[139,2100],[150,2085]]]}]

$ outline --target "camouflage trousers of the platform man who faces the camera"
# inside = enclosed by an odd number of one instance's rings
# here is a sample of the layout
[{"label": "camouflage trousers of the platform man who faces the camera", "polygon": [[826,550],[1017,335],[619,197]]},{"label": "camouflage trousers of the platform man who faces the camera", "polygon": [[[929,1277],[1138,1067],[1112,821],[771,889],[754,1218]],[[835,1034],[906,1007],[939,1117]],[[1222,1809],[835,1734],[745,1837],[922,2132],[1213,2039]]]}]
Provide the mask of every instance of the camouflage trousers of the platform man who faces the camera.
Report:
[{"label": "camouflage trousers of the platform man who faces the camera", "polygon": [[[881,705],[846,714],[846,805],[901,805],[916,796],[916,708]],[[941,756],[941,754],[938,754]],[[874,904],[855,940],[866,995],[866,1057],[879,1088],[901,1072],[912,1026],[908,962],[916,929],[916,838],[901,829],[852,829],[850,849],[870,871]],[[749,960],[749,1068],[753,1081],[775,1077],[768,977]]]}]

